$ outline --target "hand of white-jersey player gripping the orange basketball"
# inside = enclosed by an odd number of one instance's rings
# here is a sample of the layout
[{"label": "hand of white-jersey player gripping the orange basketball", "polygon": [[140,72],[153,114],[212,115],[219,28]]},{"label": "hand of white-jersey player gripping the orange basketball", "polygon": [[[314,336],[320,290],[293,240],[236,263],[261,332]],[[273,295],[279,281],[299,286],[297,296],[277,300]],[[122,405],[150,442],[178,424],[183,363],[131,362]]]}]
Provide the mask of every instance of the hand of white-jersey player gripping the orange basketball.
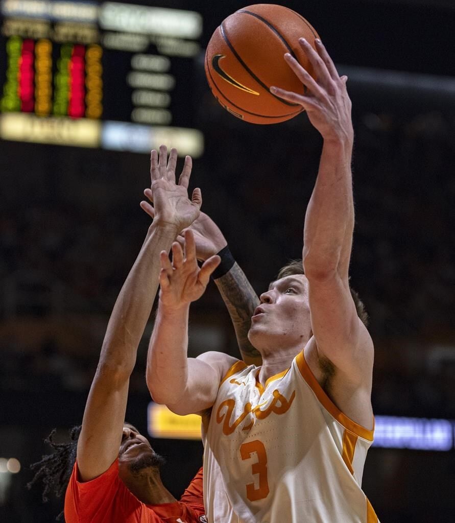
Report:
[{"label": "hand of white-jersey player gripping the orange basketball", "polygon": [[352,140],[351,100],[346,90],[347,76],[338,75],[335,64],[321,40],[315,40],[316,51],[304,38],[301,38],[299,43],[308,56],[316,80],[297,60],[286,53],[285,60],[306,87],[306,94],[292,93],[278,86],[270,87],[270,92],[303,106],[311,123],[324,139]]}]

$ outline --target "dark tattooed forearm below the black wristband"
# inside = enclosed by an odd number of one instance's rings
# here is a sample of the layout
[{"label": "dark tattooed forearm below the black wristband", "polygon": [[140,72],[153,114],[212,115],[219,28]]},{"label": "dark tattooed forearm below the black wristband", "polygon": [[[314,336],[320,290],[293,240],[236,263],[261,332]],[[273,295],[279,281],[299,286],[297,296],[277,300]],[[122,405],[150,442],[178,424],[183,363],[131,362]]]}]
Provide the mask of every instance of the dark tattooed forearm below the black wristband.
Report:
[{"label": "dark tattooed forearm below the black wristband", "polygon": [[259,358],[260,354],[248,340],[251,317],[259,305],[253,287],[237,263],[224,276],[217,278],[215,283],[231,316],[242,357]]}]

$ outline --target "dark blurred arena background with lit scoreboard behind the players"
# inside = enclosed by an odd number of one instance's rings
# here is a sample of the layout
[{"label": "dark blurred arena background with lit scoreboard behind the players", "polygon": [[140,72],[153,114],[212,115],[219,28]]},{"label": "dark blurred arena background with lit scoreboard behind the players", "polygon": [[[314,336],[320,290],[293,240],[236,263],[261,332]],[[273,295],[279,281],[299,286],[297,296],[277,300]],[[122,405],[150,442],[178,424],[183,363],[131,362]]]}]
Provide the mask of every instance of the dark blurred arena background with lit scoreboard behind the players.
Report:
[{"label": "dark blurred arena background with lit scoreboard behind the players", "polygon": [[[258,293],[301,256],[319,134],[305,115],[272,126],[238,120],[204,75],[212,32],[247,3],[139,3],[1,3],[5,523],[48,523],[62,509],[62,499],[41,502],[40,485],[27,490],[29,465],[49,452],[43,439],[53,427],[60,440],[81,423],[110,311],[150,223],[139,202],[152,148],[165,143],[194,157],[191,186],[201,187],[203,210]],[[383,523],[453,523],[455,3],[284,4],[308,18],[349,77],[351,283],[376,346],[377,430],[363,490]],[[151,328],[127,420],[167,458],[163,482],[177,496],[200,466],[202,445],[190,428],[178,435],[172,419],[152,416],[144,378]],[[211,283],[191,306],[189,351],[213,349],[238,355]]]}]

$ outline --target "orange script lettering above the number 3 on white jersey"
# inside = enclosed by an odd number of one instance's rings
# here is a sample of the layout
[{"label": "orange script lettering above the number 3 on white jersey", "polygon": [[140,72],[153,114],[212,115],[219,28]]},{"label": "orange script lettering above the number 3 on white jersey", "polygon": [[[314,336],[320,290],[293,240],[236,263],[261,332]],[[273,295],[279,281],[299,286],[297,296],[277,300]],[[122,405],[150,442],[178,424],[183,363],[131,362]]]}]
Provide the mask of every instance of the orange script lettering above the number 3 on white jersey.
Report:
[{"label": "orange script lettering above the number 3 on white jersey", "polygon": [[[230,421],[235,408],[235,400],[229,399],[220,403],[217,412],[217,423],[223,423],[223,434],[225,436],[229,436],[230,434],[232,434],[234,430],[238,427],[238,425],[240,425],[246,418],[246,416],[248,416],[248,414],[250,413],[252,413],[257,419],[265,419],[266,417],[270,416],[271,413],[285,414],[285,412],[288,412],[289,408],[292,405],[292,402],[294,401],[295,391],[292,392],[289,400],[287,400],[285,396],[280,394],[278,390],[274,390],[273,395],[274,399],[270,402],[270,405],[263,411],[260,410],[260,407],[264,406],[265,403],[261,403],[260,405],[257,405],[253,408],[251,406],[251,403],[248,402],[244,406],[242,414],[234,420],[232,425],[230,425]],[[225,410],[224,407],[226,407]],[[222,412],[223,410],[224,412]],[[253,422],[251,422],[247,427],[244,427],[244,430],[251,429],[251,427],[253,426]]]}]

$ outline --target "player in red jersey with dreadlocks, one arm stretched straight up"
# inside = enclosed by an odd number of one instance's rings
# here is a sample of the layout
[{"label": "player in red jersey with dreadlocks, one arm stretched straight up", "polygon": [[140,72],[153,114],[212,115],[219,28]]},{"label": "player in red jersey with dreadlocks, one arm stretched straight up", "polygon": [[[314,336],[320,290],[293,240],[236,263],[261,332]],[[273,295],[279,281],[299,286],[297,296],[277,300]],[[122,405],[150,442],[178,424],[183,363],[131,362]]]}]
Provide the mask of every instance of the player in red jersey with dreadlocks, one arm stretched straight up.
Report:
[{"label": "player in red jersey with dreadlocks, one arm stretched straight up", "polygon": [[[187,196],[191,158],[186,157],[178,184],[176,162],[175,149],[168,162],[165,146],[160,147],[159,161],[157,152],[151,153],[155,219],[113,308],[82,427],[72,429],[69,444],[56,444],[51,434],[48,441],[56,452],[34,465],[39,470],[32,483],[43,478],[43,497],[51,489],[60,494],[68,484],[66,523],[205,521],[202,469],[178,502],[161,482],[162,458],[134,426],[124,422],[129,379],[158,287],[160,252],[167,252],[179,232],[199,215],[200,190],[194,190],[192,200]],[[141,206],[146,207],[145,202]],[[211,257],[202,266],[204,285],[218,261]]]}]

